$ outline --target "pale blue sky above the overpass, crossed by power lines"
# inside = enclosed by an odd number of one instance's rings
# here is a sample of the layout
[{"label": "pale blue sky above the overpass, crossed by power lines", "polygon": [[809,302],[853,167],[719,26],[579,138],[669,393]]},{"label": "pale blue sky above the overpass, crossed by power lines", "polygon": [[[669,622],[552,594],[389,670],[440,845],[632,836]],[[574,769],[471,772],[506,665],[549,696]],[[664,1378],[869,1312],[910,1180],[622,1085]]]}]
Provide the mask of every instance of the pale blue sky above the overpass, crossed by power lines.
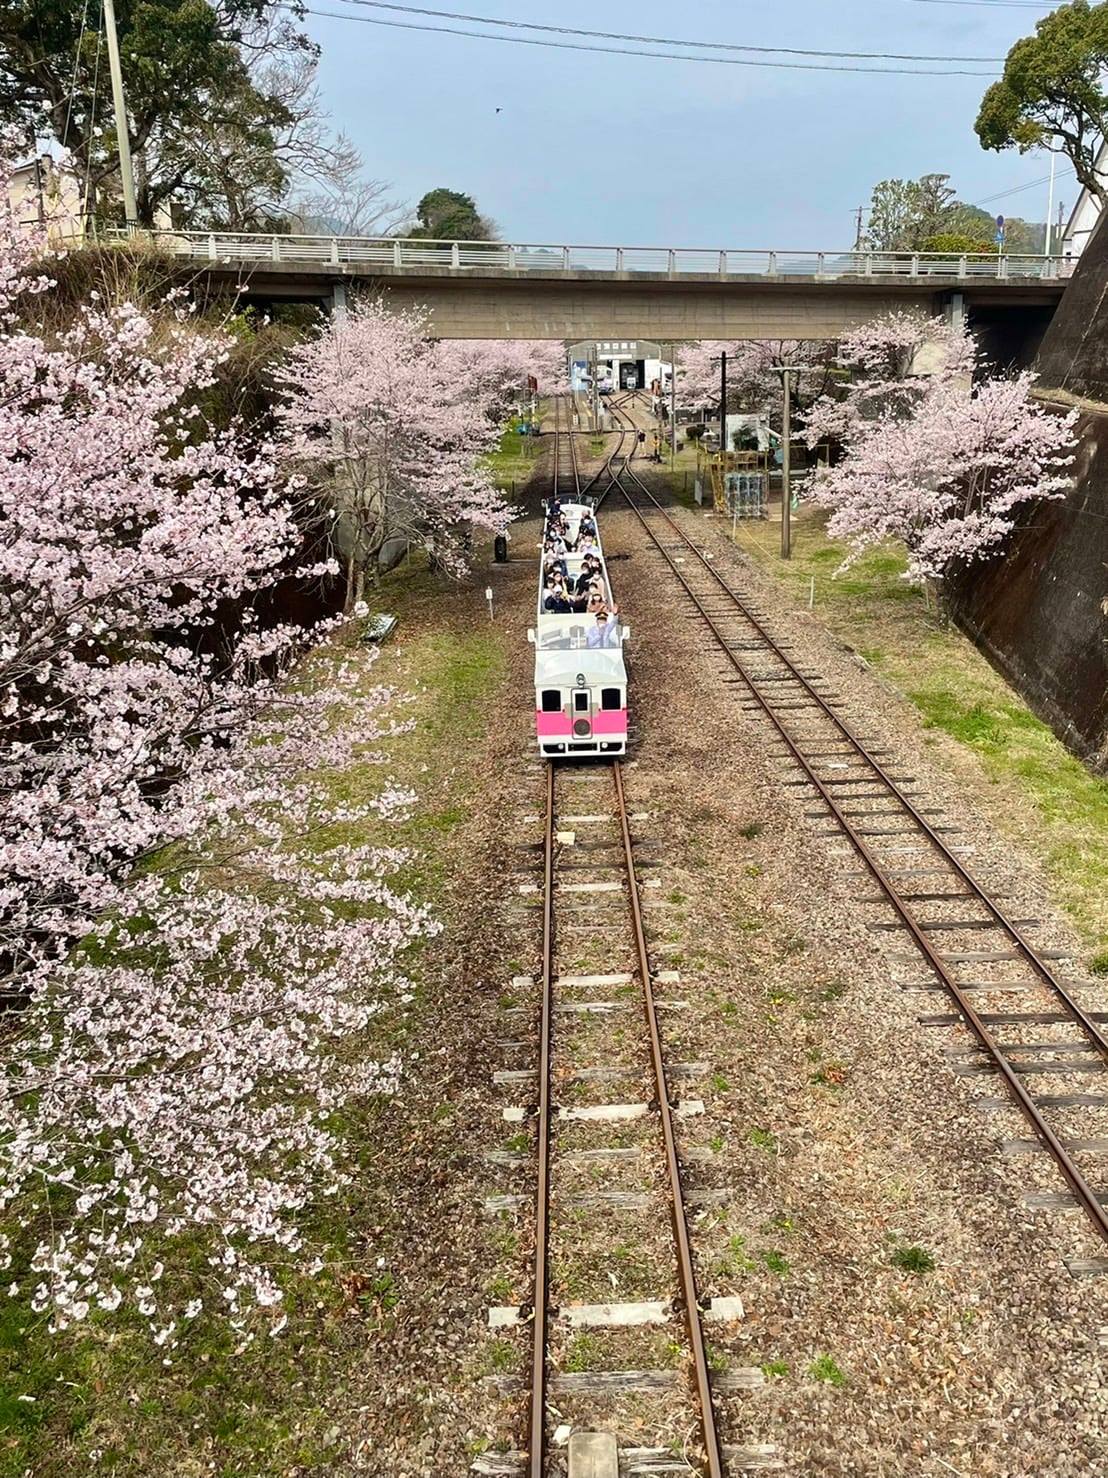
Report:
[{"label": "pale blue sky above the overpass, crossed by power lines", "polygon": [[[1049,4],[1030,0],[414,0],[471,16],[592,31],[804,47],[842,67],[987,75],[860,75],[663,61],[427,34],[310,13],[319,81],[369,174],[415,202],[473,195],[504,238],[573,245],[838,250],[854,211],[888,177],[948,173],[959,198],[1043,220],[1044,154],[985,152],[974,133],[1009,47]],[[307,0],[427,27],[473,22]],[[504,33],[501,33],[504,34]],[[517,31],[517,35],[541,33]],[[547,40],[595,46],[573,35]],[[669,47],[680,50],[680,47]],[[847,52],[938,62],[851,61]],[[709,55],[709,53],[703,53]],[[746,53],[719,53],[743,56]],[[987,61],[953,61],[985,58]],[[499,109],[499,111],[496,111]],[[1059,160],[1058,200],[1077,195]]]}]

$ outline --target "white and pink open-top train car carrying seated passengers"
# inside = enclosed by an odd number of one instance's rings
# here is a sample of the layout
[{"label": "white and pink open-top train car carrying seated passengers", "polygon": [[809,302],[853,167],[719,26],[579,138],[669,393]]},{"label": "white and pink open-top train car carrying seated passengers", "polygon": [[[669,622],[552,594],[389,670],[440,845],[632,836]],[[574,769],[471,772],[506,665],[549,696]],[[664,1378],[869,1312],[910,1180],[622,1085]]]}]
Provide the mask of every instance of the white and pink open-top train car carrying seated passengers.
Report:
[{"label": "white and pink open-top train car carrying seated passengers", "polygon": [[[576,531],[585,514],[595,510],[591,503],[563,503],[561,517],[567,542],[576,542]],[[550,511],[544,519],[544,539]],[[609,607],[615,603],[607,560],[597,528],[592,553],[601,562],[601,579]],[[581,575],[584,554],[570,548],[566,556],[569,578]],[[544,571],[539,553],[539,596],[535,627],[527,640],[535,644],[535,732],[539,754],[547,758],[569,758],[626,754],[626,667],[623,644],[631,631],[619,616],[603,625],[595,613],[553,613],[544,609]]]}]

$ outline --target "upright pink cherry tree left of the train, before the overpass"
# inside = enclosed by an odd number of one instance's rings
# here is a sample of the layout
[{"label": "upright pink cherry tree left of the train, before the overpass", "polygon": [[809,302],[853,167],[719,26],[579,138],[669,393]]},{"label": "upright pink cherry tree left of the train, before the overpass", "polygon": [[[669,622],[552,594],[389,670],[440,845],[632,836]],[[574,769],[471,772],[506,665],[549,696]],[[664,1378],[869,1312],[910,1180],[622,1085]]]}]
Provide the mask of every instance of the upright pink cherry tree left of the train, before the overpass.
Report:
[{"label": "upright pink cherry tree left of the train, before the overpass", "polygon": [[473,528],[502,532],[510,511],[482,466],[498,429],[486,414],[502,375],[477,393],[468,356],[427,337],[421,313],[380,299],[297,346],[281,374],[282,451],[337,519],[347,605],[389,538],[465,568]]}]

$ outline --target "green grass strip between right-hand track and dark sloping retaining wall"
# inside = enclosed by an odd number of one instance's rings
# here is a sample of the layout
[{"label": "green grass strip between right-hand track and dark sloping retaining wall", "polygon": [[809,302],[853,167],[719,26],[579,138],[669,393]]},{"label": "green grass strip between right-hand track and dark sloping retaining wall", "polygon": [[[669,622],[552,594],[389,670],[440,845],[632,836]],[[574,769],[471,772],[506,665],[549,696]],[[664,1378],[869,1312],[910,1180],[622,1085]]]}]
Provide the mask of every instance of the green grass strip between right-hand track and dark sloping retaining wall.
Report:
[{"label": "green grass strip between right-hand track and dark sloping retaining wall", "polygon": [[836,573],[845,545],[823,525],[818,510],[799,510],[789,562],[764,523],[740,525],[739,544],[798,605],[814,594],[817,619],[914,705],[925,729],[972,755],[997,828],[1039,854],[1092,968],[1108,973],[1108,780],[1065,749],[934,599],[904,581],[903,550],[870,550]]}]

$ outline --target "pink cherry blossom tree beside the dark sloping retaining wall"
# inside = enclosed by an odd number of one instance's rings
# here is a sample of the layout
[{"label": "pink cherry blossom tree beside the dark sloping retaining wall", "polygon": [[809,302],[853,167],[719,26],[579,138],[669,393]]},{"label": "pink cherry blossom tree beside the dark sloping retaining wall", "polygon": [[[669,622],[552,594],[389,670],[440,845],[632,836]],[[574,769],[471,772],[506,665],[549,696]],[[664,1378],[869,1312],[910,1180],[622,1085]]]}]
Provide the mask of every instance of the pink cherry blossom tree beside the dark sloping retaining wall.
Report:
[{"label": "pink cherry blossom tree beside the dark sloping retaining wall", "polygon": [[[1071,485],[1075,412],[1031,398],[1034,375],[974,381],[965,328],[895,313],[844,338],[844,393],[808,414],[842,460],[820,469],[814,498],[832,510],[827,532],[855,559],[886,538],[909,550],[909,576],[941,578],[951,563],[993,554],[1021,508]],[[914,374],[913,374],[914,371]]]}]

